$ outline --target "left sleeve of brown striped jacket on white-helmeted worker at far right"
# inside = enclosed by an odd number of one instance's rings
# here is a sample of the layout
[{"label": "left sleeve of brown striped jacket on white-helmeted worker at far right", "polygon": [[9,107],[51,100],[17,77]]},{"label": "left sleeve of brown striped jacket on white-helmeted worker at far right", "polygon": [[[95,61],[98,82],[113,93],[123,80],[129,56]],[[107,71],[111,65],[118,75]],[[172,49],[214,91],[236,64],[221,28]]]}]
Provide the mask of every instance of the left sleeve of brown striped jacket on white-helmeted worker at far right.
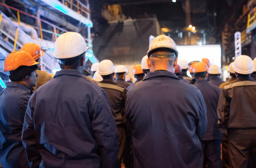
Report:
[{"label": "left sleeve of brown striped jacket on white-helmeted worker at far right", "polygon": [[221,133],[227,135],[227,126],[229,120],[230,100],[225,97],[225,90],[220,92],[220,98],[217,106],[218,127]]}]

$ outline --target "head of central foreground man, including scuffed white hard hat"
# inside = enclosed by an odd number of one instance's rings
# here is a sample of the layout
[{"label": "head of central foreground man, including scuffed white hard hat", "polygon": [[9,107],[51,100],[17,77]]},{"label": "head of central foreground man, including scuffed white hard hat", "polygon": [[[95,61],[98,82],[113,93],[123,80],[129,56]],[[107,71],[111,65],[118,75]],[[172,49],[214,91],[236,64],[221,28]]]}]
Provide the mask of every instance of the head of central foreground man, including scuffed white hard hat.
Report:
[{"label": "head of central foreground man, including scuffed white hard hat", "polygon": [[155,37],[149,44],[148,67],[155,70],[168,70],[174,73],[177,65],[178,51],[175,42],[166,35]]}]

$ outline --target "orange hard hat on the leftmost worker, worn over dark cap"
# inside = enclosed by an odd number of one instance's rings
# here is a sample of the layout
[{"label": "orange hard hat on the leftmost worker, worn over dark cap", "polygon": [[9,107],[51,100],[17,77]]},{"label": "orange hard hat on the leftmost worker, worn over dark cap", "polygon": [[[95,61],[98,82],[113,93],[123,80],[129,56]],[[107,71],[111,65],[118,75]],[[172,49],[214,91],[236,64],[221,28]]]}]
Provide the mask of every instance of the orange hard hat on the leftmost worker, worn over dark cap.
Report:
[{"label": "orange hard hat on the leftmost worker, worn over dark cap", "polygon": [[25,51],[15,51],[10,53],[4,62],[3,72],[13,71],[20,66],[32,66],[40,64],[36,62],[33,57]]}]

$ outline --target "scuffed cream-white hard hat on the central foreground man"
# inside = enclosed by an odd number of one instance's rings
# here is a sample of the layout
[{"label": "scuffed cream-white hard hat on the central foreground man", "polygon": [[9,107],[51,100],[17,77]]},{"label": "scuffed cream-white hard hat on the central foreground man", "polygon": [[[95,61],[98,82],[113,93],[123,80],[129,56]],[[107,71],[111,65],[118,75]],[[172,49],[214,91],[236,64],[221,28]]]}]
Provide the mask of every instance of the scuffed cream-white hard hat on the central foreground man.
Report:
[{"label": "scuffed cream-white hard hat on the central foreground man", "polygon": [[157,48],[169,48],[173,49],[176,57],[178,57],[178,51],[176,48],[175,42],[168,36],[166,35],[159,35],[155,37],[149,44],[148,52],[147,55],[153,50]]}]

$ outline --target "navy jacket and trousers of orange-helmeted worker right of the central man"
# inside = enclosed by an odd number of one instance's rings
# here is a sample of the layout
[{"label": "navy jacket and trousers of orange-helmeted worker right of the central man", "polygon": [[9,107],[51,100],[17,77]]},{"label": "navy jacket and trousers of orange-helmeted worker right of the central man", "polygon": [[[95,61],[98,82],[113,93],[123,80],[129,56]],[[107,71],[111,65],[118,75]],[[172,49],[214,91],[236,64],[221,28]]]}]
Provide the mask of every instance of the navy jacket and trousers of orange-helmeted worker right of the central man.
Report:
[{"label": "navy jacket and trousers of orange-helmeted worker right of the central man", "polygon": [[200,79],[194,84],[202,93],[207,107],[207,130],[202,139],[204,153],[204,167],[220,168],[220,143],[222,133],[218,129],[217,105],[220,96],[220,88],[209,84],[207,80]]}]

